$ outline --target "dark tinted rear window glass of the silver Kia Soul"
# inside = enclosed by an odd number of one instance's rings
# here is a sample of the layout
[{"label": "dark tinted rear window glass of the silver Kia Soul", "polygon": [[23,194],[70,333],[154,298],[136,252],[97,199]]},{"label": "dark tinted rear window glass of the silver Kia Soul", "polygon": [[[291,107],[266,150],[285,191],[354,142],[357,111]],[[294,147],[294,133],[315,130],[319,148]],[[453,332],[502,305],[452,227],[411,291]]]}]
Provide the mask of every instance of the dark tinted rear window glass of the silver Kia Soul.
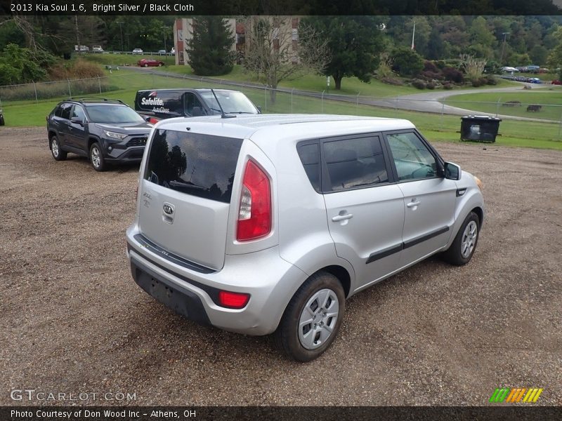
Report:
[{"label": "dark tinted rear window glass of the silver Kia Soul", "polygon": [[156,131],[145,180],[168,189],[230,203],[242,139]]}]

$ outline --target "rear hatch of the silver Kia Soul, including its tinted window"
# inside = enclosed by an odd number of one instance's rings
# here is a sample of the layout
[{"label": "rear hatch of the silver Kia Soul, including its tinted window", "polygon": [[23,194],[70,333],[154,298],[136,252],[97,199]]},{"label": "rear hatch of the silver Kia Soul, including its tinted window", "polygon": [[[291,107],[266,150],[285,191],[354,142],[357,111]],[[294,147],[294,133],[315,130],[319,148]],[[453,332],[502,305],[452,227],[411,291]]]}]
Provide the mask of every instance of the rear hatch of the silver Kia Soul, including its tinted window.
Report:
[{"label": "rear hatch of the silver Kia Soul, including its tinted window", "polygon": [[141,183],[143,236],[166,253],[221,269],[241,147],[242,139],[155,131]]}]

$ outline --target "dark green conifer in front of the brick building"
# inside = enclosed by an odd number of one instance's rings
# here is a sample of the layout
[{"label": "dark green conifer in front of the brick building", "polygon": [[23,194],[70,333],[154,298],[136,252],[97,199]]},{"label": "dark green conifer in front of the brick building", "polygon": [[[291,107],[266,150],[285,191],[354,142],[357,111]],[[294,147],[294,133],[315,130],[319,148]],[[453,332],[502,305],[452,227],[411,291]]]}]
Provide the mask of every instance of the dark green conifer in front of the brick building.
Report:
[{"label": "dark green conifer in front of the brick building", "polygon": [[216,76],[233,69],[234,53],[231,51],[235,36],[228,20],[221,16],[202,16],[193,20],[193,37],[185,51],[188,63],[195,74]]}]

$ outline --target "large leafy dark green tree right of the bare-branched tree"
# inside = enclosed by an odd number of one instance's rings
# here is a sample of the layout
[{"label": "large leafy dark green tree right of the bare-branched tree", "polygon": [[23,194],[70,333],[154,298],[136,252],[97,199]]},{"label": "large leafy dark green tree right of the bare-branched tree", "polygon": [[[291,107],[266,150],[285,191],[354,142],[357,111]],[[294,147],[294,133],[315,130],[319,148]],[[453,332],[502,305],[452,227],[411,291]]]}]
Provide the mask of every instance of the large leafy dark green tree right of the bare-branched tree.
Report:
[{"label": "large leafy dark green tree right of the bare-branched tree", "polygon": [[314,16],[303,20],[327,39],[330,60],[322,72],[332,76],[336,90],[341,79],[356,76],[369,82],[384,49],[381,22],[374,16]]}]

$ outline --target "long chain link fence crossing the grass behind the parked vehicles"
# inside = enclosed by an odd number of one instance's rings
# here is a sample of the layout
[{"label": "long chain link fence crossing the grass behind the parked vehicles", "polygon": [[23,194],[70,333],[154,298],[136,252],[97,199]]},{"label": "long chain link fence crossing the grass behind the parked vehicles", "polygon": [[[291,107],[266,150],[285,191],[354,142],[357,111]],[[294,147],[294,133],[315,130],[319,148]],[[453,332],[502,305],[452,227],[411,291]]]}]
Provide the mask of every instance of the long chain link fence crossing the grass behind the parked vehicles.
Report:
[{"label": "long chain link fence crossing the grass behind the parked vehicles", "polygon": [[[127,86],[131,90],[162,88],[231,88],[245,93],[263,112],[304,114],[356,114],[410,119],[424,130],[457,132],[460,116],[468,114],[499,116],[503,119],[500,133],[521,132],[521,121],[527,122],[532,133],[543,140],[562,140],[562,105],[537,103],[523,98],[513,100],[513,94],[505,100],[476,102],[453,100],[424,100],[398,96],[394,98],[361,95],[341,95],[333,90],[322,92],[299,91],[294,88],[277,88],[258,83],[236,82],[201,76],[179,75],[162,72],[138,74],[124,72],[126,67],[111,67],[111,74],[91,79],[67,79],[64,81],[27,83],[25,85],[0,86],[0,107],[4,112],[12,102],[29,101],[39,104],[77,96],[104,96]],[[126,79],[130,78],[130,79]],[[125,80],[123,80],[125,79]],[[556,87],[558,88],[558,87]],[[535,90],[536,91],[536,90]],[[428,91],[429,92],[429,91]],[[435,91],[432,91],[435,92]],[[474,91],[481,92],[481,91]],[[518,92],[518,91],[512,91]],[[562,90],[561,90],[562,92]],[[112,95],[115,98],[115,95]],[[554,97],[553,97],[554,98]],[[133,98],[119,98],[133,104]],[[556,102],[556,101],[553,101]],[[412,113],[421,112],[421,113]],[[426,113],[432,114],[426,114]],[[519,119],[517,121],[516,119]],[[519,124],[519,126],[516,124]],[[534,128],[537,127],[535,130]]]}]

